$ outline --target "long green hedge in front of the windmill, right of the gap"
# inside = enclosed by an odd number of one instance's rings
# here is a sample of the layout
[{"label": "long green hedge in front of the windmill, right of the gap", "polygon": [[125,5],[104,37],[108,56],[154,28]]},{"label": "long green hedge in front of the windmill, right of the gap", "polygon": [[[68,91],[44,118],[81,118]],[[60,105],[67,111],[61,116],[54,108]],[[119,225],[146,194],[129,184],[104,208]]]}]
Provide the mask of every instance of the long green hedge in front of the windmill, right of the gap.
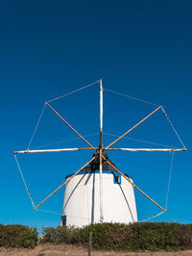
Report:
[{"label": "long green hedge in front of the windmill, right of the gap", "polygon": [[87,245],[92,231],[94,249],[105,250],[184,250],[192,249],[192,224],[146,222],[133,224],[97,223],[43,229],[41,243],[72,243]]}]

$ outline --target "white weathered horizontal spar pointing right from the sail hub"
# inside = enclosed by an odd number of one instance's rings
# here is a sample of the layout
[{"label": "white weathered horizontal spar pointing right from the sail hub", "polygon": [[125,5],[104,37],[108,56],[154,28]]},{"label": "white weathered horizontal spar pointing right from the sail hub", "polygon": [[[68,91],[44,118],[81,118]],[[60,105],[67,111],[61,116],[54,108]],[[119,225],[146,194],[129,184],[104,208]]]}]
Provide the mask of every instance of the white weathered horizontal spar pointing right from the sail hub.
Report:
[{"label": "white weathered horizontal spar pointing right from the sail hub", "polygon": [[120,150],[120,151],[131,151],[131,152],[178,152],[186,151],[186,148],[106,148],[103,150]]}]

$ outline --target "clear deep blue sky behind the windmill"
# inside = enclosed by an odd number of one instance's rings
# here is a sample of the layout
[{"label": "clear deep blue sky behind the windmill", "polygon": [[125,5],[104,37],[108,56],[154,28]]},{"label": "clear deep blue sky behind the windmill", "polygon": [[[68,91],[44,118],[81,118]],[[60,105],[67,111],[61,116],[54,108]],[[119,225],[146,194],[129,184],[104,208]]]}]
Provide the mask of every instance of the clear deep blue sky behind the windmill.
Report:
[{"label": "clear deep blue sky behind the windmill", "polygon": [[[34,212],[12,151],[26,149],[46,100],[103,79],[104,88],[162,104],[188,151],[176,153],[168,213],[156,221],[191,222],[192,4],[190,1],[1,1],[0,222],[50,226],[60,216]],[[53,106],[83,135],[99,132],[99,88]],[[121,135],[155,107],[107,91],[104,131]],[[132,139],[180,146],[160,113]],[[84,146],[48,109],[32,147]],[[98,134],[87,138],[97,145]],[[105,143],[115,137],[106,135]],[[153,147],[124,140],[125,147]],[[50,146],[53,147],[53,146]],[[48,146],[47,146],[48,148]],[[108,154],[136,185],[164,206],[171,154]],[[53,192],[88,153],[18,156],[35,203]],[[158,213],[135,192],[139,218]],[[63,190],[42,209],[61,212]]]}]

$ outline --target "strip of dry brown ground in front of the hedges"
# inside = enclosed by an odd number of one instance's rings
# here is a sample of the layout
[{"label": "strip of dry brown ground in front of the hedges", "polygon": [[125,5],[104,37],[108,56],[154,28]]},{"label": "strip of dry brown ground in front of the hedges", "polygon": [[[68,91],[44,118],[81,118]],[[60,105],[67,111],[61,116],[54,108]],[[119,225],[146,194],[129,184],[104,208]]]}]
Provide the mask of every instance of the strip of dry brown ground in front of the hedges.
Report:
[{"label": "strip of dry brown ground in front of the hedges", "polygon": [[[0,256],[85,256],[87,255],[87,249],[74,245],[66,244],[39,244],[35,249],[11,249],[0,247]],[[179,251],[179,252],[125,252],[125,251],[92,251],[92,256],[192,256],[192,250]]]}]

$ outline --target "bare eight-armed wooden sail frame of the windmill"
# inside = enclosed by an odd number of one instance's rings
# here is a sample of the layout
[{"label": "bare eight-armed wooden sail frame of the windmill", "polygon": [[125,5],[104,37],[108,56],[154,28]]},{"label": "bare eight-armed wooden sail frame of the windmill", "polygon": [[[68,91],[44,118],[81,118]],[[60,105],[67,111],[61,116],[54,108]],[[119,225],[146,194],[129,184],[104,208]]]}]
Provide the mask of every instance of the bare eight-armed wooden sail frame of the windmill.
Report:
[{"label": "bare eight-armed wooden sail frame of the windmill", "polygon": [[[146,196],[149,200],[151,200],[159,209],[162,210],[162,213],[165,213],[167,211],[167,209],[164,209],[163,207],[161,207],[159,204],[156,203],[156,201],[154,199],[152,199],[148,194],[146,194],[145,192],[141,191],[133,182],[132,180],[127,177],[125,174],[123,174],[116,166],[114,166],[114,164],[111,163],[111,161],[108,161],[108,156],[106,155],[106,151],[129,151],[129,152],[180,152],[180,151],[186,151],[186,147],[184,146],[183,142],[180,140],[180,136],[179,134],[177,133],[176,129],[174,128],[172,122],[170,121],[168,115],[166,114],[166,112],[164,111],[163,107],[162,106],[158,106],[156,108],[156,110],[154,110],[152,113],[150,113],[149,115],[146,115],[143,119],[141,119],[138,123],[136,123],[134,126],[132,126],[132,128],[130,128],[127,132],[125,132],[123,135],[121,135],[120,137],[118,137],[115,141],[112,141],[108,144],[108,146],[105,146],[103,145],[103,92],[104,92],[104,89],[103,89],[103,85],[102,85],[102,79],[100,79],[99,81],[95,82],[95,83],[92,83],[84,88],[87,88],[91,85],[94,85],[96,83],[99,83],[100,85],[100,139],[99,139],[99,145],[98,147],[94,147],[89,141],[86,141],[84,139],[84,137],[74,128],[72,127],[72,125],[69,124],[68,121],[66,121],[66,119],[64,119],[51,105],[50,105],[50,102],[54,101],[54,100],[58,100],[60,99],[61,97],[63,96],[66,96],[68,94],[71,94],[71,93],[74,93],[76,91],[79,91],[79,90],[75,90],[75,91],[72,91],[72,92],[69,92],[65,95],[62,95],[58,98],[55,98],[55,99],[52,99],[48,102],[45,102],[45,105],[44,105],[44,108],[45,106],[48,106],[48,108],[55,114],[57,115],[75,134],[78,135],[78,137],[80,137],[89,147],[83,147],[83,148],[58,148],[58,149],[41,149],[41,150],[31,150],[29,147],[28,149],[26,150],[20,150],[20,151],[14,151],[13,154],[14,156],[16,154],[28,154],[28,153],[57,153],[57,152],[67,152],[67,151],[86,151],[86,150],[94,150],[95,151],[95,154],[93,155],[93,157],[84,165],[82,166],[79,170],[77,170],[72,176],[70,176],[64,183],[62,183],[60,185],[60,187],[58,187],[58,189],[56,189],[54,192],[52,192],[50,195],[48,195],[43,201],[41,201],[40,203],[38,203],[36,206],[32,200],[32,203],[33,203],[33,208],[34,210],[37,210],[37,208],[39,206],[41,206],[45,201],[47,201],[53,194],[55,194],[56,192],[58,192],[64,185],[66,185],[73,177],[75,177],[77,174],[79,174],[81,171],[84,170],[84,168],[87,168],[88,166],[90,166],[90,164],[92,162],[94,162],[96,159],[97,159],[97,163],[99,163],[99,172],[100,172],[100,221],[103,222],[105,217],[104,217],[104,212],[103,212],[103,165],[104,165],[104,162],[105,163],[108,163],[108,166],[110,166],[111,168],[113,168],[115,171],[117,171],[122,177],[124,177],[136,190],[138,190],[139,192],[141,192],[144,196]],[[83,89],[84,89],[83,88]],[[82,89],[80,89],[82,90]],[[155,105],[155,104],[154,104]],[[44,110],[43,108],[43,110]],[[128,135],[129,133],[132,132],[132,130],[134,130],[137,126],[139,126],[141,123],[143,123],[145,120],[147,120],[149,117],[151,117],[152,115],[155,115],[157,111],[159,110],[162,110],[163,114],[165,115],[165,117],[167,118],[169,124],[171,125],[171,127],[173,128],[174,132],[176,133],[178,139],[180,140],[181,144],[182,144],[182,148],[112,148],[111,146],[116,143],[117,141],[120,141],[121,139],[123,139],[126,135]],[[42,112],[43,113],[43,112]],[[41,115],[42,115],[41,113]],[[41,118],[41,115],[38,119],[38,122],[37,122],[37,125],[40,121],[40,118]],[[36,128],[37,128],[37,125],[36,125]],[[35,129],[35,132],[33,134],[33,137],[30,141],[30,145],[31,145],[31,142],[35,136],[35,133],[36,133],[36,129]],[[21,172],[21,169],[20,169],[20,166],[17,162],[17,159],[15,157],[15,160],[16,160],[16,163],[17,163],[17,166],[19,168],[19,171],[21,173],[21,176],[22,176],[22,172]],[[23,178],[23,176],[22,176]],[[25,183],[25,180],[23,178],[23,181]],[[28,191],[28,194],[29,196],[31,197],[31,194],[29,193],[29,190],[28,190],[28,187],[25,183],[25,187],[26,187],[26,190]],[[161,214],[161,213],[160,213]],[[160,215],[158,214],[158,215]],[[158,216],[156,215],[156,216]]]}]

